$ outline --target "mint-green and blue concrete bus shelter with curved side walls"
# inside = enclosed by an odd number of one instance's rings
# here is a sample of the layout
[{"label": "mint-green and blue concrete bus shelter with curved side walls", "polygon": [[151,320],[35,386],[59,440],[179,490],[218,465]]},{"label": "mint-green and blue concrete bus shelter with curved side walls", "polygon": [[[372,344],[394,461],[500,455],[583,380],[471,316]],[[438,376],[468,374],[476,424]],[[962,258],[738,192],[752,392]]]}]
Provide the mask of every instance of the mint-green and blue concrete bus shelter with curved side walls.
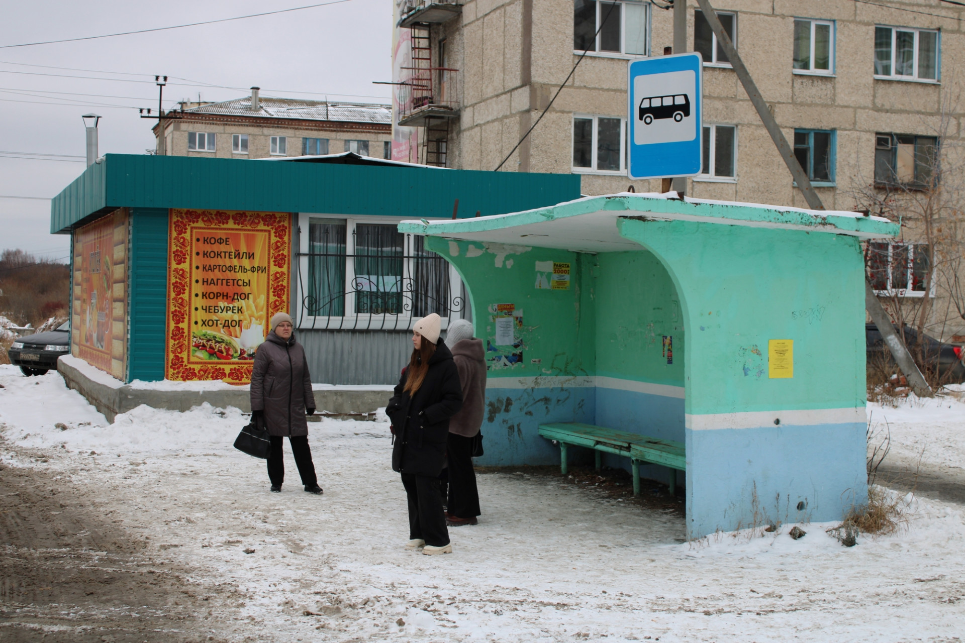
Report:
[{"label": "mint-green and blue concrete bus shelter with curved side walls", "polygon": [[558,463],[544,422],[683,442],[690,538],[866,500],[861,242],[896,224],[620,194],[399,229],[427,235],[476,311],[481,464]]}]

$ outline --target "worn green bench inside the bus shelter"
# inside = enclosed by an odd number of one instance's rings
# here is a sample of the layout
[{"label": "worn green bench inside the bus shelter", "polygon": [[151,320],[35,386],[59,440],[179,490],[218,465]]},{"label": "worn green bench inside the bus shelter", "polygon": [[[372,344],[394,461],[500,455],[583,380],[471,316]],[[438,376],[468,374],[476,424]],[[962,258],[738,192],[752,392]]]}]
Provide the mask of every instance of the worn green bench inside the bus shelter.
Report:
[{"label": "worn green bench inside the bus shelter", "polygon": [[[560,444],[560,470],[565,475],[566,447],[592,448],[596,456],[596,469],[600,468],[600,453],[613,453],[630,459],[633,469],[633,495],[640,496],[640,463],[662,465],[672,471],[686,470],[683,444],[670,440],[658,440],[636,433],[617,431],[593,424],[579,422],[552,422],[539,425],[539,435]],[[670,493],[676,494],[676,472],[670,476]]]}]

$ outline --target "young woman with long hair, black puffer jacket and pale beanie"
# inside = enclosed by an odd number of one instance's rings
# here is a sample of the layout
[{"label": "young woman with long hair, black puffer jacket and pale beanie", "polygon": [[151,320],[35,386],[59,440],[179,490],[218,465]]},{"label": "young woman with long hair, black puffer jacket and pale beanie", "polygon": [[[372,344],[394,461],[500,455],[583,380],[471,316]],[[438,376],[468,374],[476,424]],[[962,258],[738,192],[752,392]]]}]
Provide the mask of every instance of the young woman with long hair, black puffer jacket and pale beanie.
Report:
[{"label": "young woman with long hair, black puffer jacket and pale beanie", "polygon": [[451,553],[439,473],[446,462],[449,418],[462,407],[453,354],[439,340],[439,315],[423,317],[412,332],[412,357],[402,371],[386,413],[395,443],[392,469],[399,471],[409,505],[408,549]]}]

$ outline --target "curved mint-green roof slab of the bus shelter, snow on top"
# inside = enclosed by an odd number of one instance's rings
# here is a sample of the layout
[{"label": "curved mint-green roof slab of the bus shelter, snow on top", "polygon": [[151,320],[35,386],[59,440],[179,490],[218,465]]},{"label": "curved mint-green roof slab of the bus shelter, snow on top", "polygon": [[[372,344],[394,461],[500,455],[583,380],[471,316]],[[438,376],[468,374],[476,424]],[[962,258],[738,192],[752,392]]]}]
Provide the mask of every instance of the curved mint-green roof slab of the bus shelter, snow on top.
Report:
[{"label": "curved mint-green roof slab of the bus shelter, snow on top", "polygon": [[641,250],[620,236],[617,220],[694,221],[748,228],[781,228],[847,234],[861,239],[896,237],[896,223],[860,212],[806,210],[736,201],[680,200],[676,192],[623,192],[584,197],[535,210],[457,221],[403,221],[400,232],[467,241],[490,241],[538,248],[606,253]]}]

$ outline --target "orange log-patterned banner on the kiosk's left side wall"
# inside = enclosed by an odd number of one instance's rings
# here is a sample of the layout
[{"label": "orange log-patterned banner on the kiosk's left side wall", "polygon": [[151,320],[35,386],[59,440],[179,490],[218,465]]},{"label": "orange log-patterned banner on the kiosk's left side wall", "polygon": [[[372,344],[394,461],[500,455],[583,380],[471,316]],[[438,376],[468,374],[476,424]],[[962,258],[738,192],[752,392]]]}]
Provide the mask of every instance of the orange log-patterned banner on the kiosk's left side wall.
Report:
[{"label": "orange log-patterned banner on the kiosk's left side wall", "polygon": [[115,210],[73,234],[70,352],[124,381],[127,371],[127,211]]}]

